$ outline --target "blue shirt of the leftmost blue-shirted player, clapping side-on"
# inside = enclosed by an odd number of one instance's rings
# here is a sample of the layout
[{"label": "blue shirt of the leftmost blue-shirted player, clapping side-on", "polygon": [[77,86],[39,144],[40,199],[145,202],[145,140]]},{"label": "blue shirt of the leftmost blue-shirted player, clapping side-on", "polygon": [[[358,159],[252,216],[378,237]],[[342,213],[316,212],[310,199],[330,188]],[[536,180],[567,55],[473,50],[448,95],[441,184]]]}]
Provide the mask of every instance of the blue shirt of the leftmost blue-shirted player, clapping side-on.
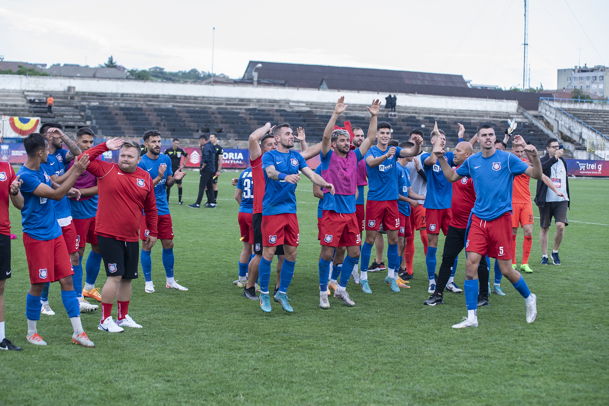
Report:
[{"label": "blue shirt of the leftmost blue-shirted player, clapping side-on", "polygon": [[46,168],[40,165],[39,170],[33,171],[26,168],[25,165],[21,165],[17,175],[23,181],[21,185],[23,232],[38,241],[48,241],[62,235],[62,227],[59,227],[57,216],[55,216],[54,201],[39,198],[32,193],[40,184],[51,187],[51,175],[47,173]]}]

